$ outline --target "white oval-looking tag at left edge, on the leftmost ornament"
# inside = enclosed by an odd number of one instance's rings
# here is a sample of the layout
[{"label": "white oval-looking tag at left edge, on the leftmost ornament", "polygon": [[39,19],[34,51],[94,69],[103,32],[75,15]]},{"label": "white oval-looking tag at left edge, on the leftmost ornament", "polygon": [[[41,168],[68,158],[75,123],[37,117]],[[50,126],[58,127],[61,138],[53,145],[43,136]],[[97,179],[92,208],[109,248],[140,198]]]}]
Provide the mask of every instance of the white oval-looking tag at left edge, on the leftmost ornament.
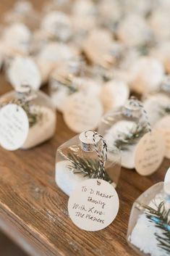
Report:
[{"label": "white oval-looking tag at left edge, on the leftmost ornament", "polygon": [[7,104],[0,110],[0,145],[7,150],[19,149],[27,139],[27,114],[17,104]]}]

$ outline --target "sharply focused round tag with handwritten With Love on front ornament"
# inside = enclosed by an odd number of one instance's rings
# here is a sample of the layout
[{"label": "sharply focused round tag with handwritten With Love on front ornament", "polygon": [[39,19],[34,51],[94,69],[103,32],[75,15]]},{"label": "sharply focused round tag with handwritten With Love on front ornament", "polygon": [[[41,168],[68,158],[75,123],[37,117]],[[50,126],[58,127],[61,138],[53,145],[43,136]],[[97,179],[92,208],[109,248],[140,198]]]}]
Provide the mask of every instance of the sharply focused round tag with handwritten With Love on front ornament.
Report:
[{"label": "sharply focused round tag with handwritten With Love on front ornament", "polygon": [[119,197],[111,184],[95,178],[80,183],[68,202],[73,223],[86,231],[109,226],[119,210]]}]

